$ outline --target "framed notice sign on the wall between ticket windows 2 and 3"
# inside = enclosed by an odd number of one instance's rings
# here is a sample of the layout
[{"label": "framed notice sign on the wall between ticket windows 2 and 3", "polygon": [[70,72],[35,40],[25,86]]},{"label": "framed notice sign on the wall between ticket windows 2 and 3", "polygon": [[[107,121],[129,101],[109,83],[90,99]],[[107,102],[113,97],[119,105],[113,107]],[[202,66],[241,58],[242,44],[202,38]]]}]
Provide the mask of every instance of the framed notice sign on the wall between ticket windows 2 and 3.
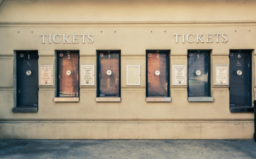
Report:
[{"label": "framed notice sign on the wall between ticket windows 2 and 3", "polygon": [[81,65],[80,71],[80,85],[95,85],[94,65]]}]

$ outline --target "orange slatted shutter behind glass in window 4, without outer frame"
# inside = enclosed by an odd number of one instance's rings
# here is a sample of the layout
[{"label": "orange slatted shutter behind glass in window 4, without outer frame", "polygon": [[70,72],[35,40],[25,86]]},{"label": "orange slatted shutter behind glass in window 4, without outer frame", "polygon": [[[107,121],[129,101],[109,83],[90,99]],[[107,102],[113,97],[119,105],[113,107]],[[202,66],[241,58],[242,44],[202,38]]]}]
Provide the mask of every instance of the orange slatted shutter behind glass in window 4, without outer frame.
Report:
[{"label": "orange slatted shutter behind glass in window 4, without outer frame", "polygon": [[168,53],[147,53],[147,96],[168,96]]}]

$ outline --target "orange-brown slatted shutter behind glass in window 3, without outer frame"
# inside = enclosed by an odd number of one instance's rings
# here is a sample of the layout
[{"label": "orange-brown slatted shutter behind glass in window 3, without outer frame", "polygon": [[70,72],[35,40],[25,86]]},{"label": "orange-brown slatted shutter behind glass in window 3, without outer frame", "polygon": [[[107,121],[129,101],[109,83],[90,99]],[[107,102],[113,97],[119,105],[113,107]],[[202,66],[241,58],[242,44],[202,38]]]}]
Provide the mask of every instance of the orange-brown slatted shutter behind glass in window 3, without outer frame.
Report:
[{"label": "orange-brown slatted shutter behind glass in window 3, without outer frame", "polygon": [[[99,53],[99,97],[119,97],[119,61],[119,53]],[[108,70],[112,72],[110,75],[107,74]]]}]

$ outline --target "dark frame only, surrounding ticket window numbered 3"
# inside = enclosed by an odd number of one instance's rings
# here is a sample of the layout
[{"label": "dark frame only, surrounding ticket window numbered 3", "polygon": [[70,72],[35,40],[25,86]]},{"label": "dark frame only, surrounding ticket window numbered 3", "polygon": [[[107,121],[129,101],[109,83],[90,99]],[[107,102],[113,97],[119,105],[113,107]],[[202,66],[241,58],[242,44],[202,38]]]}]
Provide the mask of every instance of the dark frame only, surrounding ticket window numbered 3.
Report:
[{"label": "dark frame only, surrounding ticket window numbered 3", "polygon": [[[120,98],[121,97],[121,50],[96,50],[96,61],[97,61],[97,85],[96,85],[96,97],[100,97],[99,93],[99,86],[100,86],[100,81],[99,81],[99,54],[100,53],[119,53],[119,96],[118,97],[113,97],[113,98]],[[105,97],[109,98],[109,97]]]}]

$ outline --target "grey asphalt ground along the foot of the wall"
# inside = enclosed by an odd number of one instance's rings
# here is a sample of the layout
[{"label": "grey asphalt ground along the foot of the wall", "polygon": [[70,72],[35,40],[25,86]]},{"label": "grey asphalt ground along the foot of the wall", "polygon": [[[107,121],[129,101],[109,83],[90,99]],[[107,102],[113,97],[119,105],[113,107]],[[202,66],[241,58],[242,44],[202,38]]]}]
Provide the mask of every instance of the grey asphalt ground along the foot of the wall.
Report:
[{"label": "grey asphalt ground along the foot of the wall", "polygon": [[0,159],[256,159],[254,140],[0,140]]}]

